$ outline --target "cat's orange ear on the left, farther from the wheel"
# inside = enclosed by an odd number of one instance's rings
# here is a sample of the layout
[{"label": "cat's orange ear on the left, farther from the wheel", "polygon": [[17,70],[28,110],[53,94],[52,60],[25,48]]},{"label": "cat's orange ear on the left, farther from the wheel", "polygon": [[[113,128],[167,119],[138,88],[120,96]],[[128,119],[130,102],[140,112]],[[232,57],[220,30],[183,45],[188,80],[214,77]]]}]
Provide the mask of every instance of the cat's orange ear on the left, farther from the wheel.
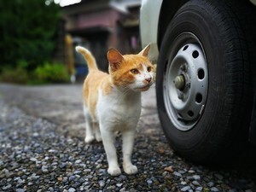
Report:
[{"label": "cat's orange ear on the left, farther from the wheel", "polygon": [[110,64],[110,67],[113,69],[113,71],[117,70],[119,68],[120,62],[124,61],[123,55],[119,53],[117,49],[108,49],[108,62]]}]

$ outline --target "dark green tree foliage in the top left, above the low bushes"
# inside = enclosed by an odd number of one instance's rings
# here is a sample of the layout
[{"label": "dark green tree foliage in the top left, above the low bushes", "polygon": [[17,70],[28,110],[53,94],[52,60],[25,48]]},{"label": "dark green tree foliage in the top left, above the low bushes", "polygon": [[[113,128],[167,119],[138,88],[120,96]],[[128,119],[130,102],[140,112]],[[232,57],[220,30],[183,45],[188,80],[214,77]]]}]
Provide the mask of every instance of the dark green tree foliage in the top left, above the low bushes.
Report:
[{"label": "dark green tree foliage in the top left, above the low bushes", "polygon": [[[0,67],[35,69],[50,61],[60,7],[45,0],[0,1]],[[21,61],[21,62],[20,62]]]}]

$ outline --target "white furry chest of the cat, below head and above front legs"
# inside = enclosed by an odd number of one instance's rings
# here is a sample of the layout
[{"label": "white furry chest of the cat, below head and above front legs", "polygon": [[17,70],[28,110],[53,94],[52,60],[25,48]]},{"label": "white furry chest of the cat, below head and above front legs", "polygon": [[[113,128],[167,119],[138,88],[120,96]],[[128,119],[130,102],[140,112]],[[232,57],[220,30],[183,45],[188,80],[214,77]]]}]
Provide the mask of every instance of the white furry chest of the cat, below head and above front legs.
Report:
[{"label": "white furry chest of the cat, below head and above front legs", "polygon": [[141,93],[132,95],[120,95],[113,92],[103,96],[99,92],[96,106],[97,117],[100,125],[104,125],[111,131],[135,129],[141,113]]}]

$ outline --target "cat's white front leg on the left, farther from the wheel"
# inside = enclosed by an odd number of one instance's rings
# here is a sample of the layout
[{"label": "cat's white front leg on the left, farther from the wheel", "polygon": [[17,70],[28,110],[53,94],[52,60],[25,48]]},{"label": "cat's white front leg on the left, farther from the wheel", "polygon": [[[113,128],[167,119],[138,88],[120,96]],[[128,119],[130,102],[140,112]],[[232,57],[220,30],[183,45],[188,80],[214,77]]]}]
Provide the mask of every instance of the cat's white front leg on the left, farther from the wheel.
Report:
[{"label": "cat's white front leg on the left, farther from the wheel", "polygon": [[106,131],[104,128],[102,129],[102,127],[101,133],[103,145],[108,159],[108,173],[112,176],[117,176],[121,174],[121,170],[119,168],[116,149],[114,147],[114,134],[112,131]]}]

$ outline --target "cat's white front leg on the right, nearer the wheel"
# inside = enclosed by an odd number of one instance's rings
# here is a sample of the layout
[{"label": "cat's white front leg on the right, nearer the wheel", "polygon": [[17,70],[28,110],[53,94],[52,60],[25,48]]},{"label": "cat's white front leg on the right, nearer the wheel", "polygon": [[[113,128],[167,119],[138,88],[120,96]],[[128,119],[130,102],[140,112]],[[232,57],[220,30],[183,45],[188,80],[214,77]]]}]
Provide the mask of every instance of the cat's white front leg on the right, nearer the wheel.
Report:
[{"label": "cat's white front leg on the right, nearer the wheel", "polygon": [[127,174],[137,173],[137,166],[131,163],[131,154],[135,137],[135,130],[124,131],[123,137],[123,168]]}]

